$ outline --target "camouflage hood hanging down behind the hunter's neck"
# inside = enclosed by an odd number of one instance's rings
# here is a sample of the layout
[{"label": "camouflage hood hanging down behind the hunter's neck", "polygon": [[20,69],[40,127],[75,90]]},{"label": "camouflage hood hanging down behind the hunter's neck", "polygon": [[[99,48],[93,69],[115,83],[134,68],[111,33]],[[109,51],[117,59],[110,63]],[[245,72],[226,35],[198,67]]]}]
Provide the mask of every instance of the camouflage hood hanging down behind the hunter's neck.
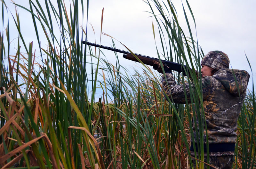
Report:
[{"label": "camouflage hood hanging down behind the hunter's neck", "polygon": [[[246,89],[250,75],[245,70],[220,69],[212,77],[215,77],[220,83],[234,96],[246,95]],[[235,78],[234,78],[235,77]]]}]

